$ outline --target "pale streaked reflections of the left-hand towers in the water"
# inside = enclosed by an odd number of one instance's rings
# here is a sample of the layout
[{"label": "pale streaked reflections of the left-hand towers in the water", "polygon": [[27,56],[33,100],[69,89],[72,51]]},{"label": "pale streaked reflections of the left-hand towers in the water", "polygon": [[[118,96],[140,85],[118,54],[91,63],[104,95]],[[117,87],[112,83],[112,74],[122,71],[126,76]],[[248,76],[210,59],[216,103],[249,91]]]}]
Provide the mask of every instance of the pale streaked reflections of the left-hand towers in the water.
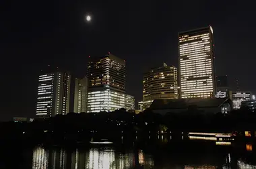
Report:
[{"label": "pale streaked reflections of the left-hand towers in the water", "polygon": [[[138,158],[135,157],[137,154]],[[34,149],[32,169],[125,169],[140,166],[152,166],[153,160],[142,150],[121,154],[113,148],[90,148],[89,151],[64,149],[46,150],[38,147]],[[136,162],[137,160],[137,162]]]}]

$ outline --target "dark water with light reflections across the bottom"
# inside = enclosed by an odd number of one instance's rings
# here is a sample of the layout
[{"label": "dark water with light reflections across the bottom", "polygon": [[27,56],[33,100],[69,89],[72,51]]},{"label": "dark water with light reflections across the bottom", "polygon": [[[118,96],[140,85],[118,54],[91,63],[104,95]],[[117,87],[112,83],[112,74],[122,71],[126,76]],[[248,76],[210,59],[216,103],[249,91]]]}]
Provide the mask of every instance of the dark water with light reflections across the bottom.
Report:
[{"label": "dark water with light reflections across the bottom", "polygon": [[5,144],[1,145],[0,168],[256,168],[256,144],[216,144],[166,136],[154,144]]}]

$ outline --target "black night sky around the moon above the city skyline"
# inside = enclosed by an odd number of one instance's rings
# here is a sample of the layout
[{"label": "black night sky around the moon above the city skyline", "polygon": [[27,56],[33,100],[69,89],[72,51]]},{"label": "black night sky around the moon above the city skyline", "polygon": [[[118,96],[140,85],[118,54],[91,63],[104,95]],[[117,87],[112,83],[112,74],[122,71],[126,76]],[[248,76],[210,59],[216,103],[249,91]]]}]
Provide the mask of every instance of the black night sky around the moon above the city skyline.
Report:
[{"label": "black night sky around the moon above the city skyline", "polygon": [[[108,51],[127,62],[127,93],[142,99],[142,74],[178,66],[178,32],[212,25],[216,75],[255,90],[253,1],[0,1],[0,121],[34,116],[37,78],[48,64],[87,72],[88,56]],[[84,15],[92,15],[90,23]],[[73,96],[72,96],[73,97]]]}]

